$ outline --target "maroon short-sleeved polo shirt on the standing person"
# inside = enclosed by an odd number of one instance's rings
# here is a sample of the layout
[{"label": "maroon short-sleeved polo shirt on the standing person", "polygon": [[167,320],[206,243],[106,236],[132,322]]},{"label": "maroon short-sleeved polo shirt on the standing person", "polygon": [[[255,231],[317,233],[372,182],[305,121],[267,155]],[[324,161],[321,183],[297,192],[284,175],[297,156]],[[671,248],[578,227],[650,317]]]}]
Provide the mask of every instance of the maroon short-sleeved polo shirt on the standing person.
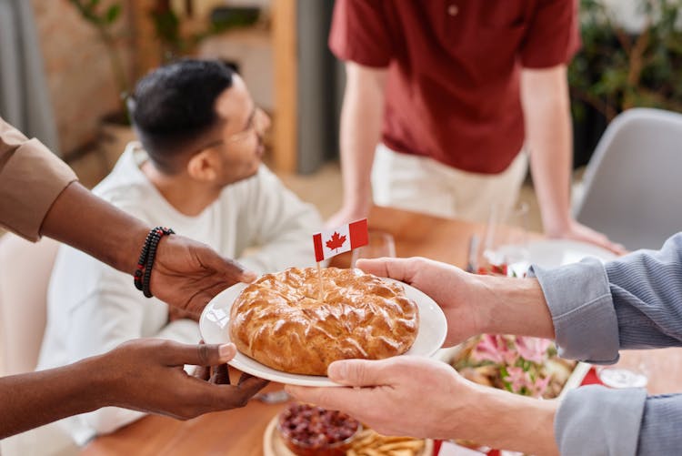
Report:
[{"label": "maroon short-sleeved polo shirt on the standing person", "polygon": [[578,46],[576,0],[336,0],[329,35],[338,58],[388,69],[387,147],[486,174],[524,143],[519,70]]}]

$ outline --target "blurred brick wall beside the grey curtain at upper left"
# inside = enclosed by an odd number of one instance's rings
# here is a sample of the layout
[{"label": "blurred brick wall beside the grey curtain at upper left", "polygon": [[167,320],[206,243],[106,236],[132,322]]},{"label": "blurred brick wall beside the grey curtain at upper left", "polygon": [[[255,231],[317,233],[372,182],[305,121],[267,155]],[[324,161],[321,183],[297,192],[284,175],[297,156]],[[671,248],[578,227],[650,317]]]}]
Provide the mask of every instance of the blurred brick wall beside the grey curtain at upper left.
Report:
[{"label": "blurred brick wall beside the grey curtain at upper left", "polygon": [[[95,28],[85,22],[74,6],[66,0],[31,0],[31,3],[60,148],[68,154],[93,141],[100,118],[116,109],[114,77]],[[126,26],[127,22],[125,14],[119,17],[122,32],[131,29]],[[124,53],[124,58],[129,64],[130,52]]]}]

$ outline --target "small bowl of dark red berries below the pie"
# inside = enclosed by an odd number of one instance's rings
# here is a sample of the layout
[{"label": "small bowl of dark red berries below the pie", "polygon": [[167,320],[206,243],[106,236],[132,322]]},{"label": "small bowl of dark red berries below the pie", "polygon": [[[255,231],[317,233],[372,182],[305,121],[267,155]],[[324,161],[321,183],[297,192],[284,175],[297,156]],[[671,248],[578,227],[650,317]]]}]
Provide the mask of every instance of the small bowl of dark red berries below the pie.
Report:
[{"label": "small bowl of dark red berries below the pie", "polygon": [[362,424],[338,410],[293,402],[280,413],[277,431],[296,456],[345,456]]}]

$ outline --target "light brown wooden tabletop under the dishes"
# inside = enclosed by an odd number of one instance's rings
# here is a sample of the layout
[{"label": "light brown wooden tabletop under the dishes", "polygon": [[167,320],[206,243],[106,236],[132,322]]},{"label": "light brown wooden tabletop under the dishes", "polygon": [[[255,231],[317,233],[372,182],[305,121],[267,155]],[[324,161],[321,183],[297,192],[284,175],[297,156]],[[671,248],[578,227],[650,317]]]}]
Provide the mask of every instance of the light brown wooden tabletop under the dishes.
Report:
[{"label": "light brown wooden tabletop under the dishes", "polygon": [[[469,238],[483,238],[485,226],[461,220],[428,217],[393,208],[373,208],[371,229],[391,233],[396,239],[398,257],[434,258],[463,267]],[[334,259],[333,265],[347,266],[348,254]],[[682,349],[631,350],[622,352],[624,367],[643,369],[649,377],[651,393],[682,391]],[[271,383],[266,390],[282,385]],[[282,410],[282,404],[268,405],[252,400],[244,409],[209,413],[190,421],[150,415],[113,434],[91,441],[81,454],[103,456],[235,454],[263,455],[263,433],[267,423]]]}]

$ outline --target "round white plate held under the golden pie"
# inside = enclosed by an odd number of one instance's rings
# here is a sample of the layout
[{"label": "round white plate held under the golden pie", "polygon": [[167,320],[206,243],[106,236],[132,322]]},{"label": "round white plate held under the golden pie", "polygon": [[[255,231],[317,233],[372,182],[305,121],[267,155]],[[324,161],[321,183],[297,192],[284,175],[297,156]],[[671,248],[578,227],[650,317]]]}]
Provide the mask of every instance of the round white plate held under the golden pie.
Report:
[{"label": "round white plate held under the golden pie", "polygon": [[[413,299],[419,309],[419,330],[415,343],[406,355],[430,357],[438,350],[446,339],[447,322],[436,302],[422,291],[394,279],[384,279],[403,286],[408,298]],[[237,283],[216,295],[206,305],[199,319],[199,330],[206,343],[227,343],[230,341],[227,325],[230,319],[232,303],[246,284]],[[299,375],[268,368],[260,362],[237,351],[230,366],[261,379],[302,386],[339,386],[327,377],[316,375]]]}]

